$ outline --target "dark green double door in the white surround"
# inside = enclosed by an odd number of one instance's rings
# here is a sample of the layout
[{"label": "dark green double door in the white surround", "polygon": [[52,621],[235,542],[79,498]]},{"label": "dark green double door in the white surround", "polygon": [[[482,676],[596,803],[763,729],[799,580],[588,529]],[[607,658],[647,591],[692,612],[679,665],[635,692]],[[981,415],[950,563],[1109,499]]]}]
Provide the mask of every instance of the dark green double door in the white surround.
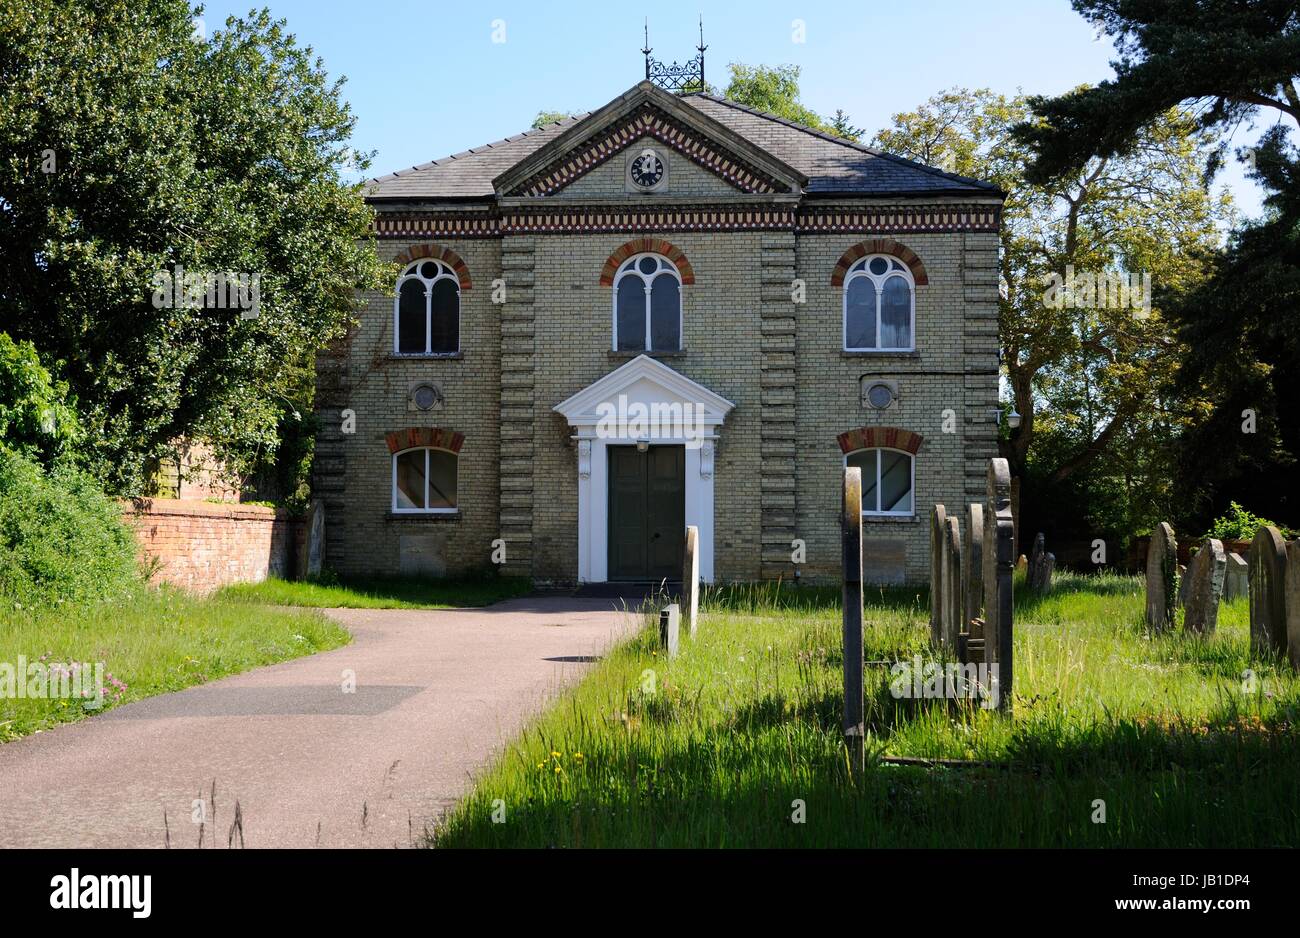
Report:
[{"label": "dark green double door in the white surround", "polygon": [[611,446],[610,579],[679,579],[686,531],[686,451]]}]

